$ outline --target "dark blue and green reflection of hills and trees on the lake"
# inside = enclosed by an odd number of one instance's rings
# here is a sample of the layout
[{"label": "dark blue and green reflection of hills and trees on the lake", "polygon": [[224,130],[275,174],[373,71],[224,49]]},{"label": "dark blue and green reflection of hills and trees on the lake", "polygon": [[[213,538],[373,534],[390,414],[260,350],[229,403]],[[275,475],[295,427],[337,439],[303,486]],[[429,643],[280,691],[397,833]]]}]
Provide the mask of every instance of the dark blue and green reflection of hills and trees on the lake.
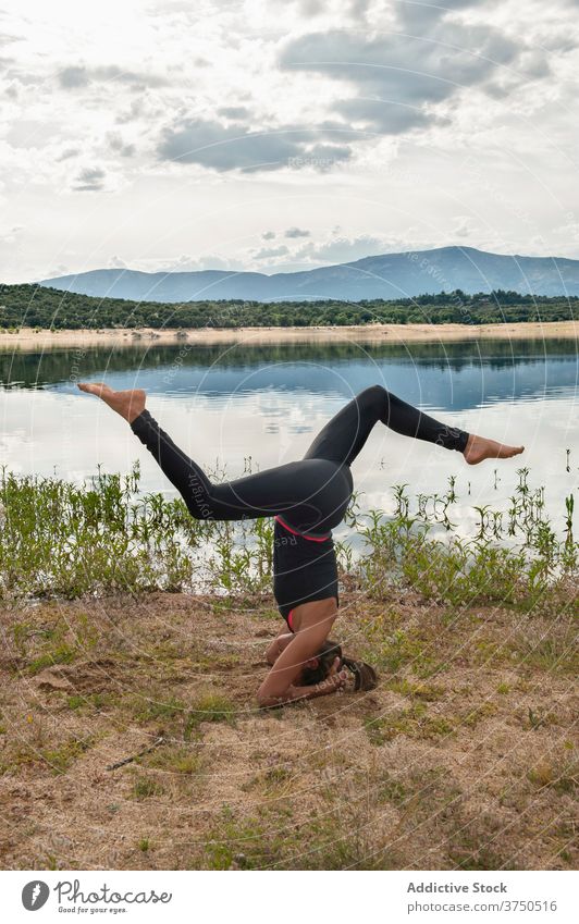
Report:
[{"label": "dark blue and green reflection of hills and trees on the lake", "polygon": [[[71,390],[81,378],[107,378],[175,397],[215,398],[255,391],[307,387],[349,397],[381,382],[430,408],[466,409],[498,401],[574,395],[575,341],[480,341],[357,345],[131,346],[44,353],[0,353],[5,387]],[[73,381],[71,381],[73,380]]]}]

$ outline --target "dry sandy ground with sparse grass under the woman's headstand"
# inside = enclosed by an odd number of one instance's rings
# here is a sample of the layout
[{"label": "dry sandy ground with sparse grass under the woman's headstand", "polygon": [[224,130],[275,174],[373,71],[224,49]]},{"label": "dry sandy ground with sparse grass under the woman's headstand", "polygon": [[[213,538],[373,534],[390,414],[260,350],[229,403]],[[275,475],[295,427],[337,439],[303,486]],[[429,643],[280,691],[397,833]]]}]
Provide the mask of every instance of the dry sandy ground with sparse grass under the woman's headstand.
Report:
[{"label": "dry sandy ground with sparse grass under the woman's headstand", "polygon": [[343,607],[379,688],[260,712],[268,602],[0,602],[0,866],[576,868],[570,607]]}]

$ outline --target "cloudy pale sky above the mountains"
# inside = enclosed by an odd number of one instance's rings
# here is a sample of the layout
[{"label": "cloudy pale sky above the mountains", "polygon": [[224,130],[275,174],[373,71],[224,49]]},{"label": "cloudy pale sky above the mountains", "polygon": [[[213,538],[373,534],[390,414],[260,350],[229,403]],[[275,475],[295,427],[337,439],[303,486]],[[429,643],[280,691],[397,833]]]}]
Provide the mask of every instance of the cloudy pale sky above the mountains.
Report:
[{"label": "cloudy pale sky above the mountains", "polygon": [[577,0],[0,0],[0,282],[579,259]]}]

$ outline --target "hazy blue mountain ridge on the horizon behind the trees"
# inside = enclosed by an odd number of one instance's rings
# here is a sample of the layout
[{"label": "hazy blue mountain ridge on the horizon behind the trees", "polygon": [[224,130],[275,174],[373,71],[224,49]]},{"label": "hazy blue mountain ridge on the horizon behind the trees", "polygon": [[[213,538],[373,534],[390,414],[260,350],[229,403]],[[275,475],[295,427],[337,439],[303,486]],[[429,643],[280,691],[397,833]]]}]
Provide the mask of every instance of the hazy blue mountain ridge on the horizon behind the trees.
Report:
[{"label": "hazy blue mountain ridge on the horizon behind the trees", "polygon": [[365,257],[297,273],[199,272],[141,273],[136,270],[93,270],[40,281],[40,285],[134,301],[306,301],[337,298],[401,299],[454,292],[521,295],[579,295],[579,260],[488,254],[472,247],[440,247]]}]

